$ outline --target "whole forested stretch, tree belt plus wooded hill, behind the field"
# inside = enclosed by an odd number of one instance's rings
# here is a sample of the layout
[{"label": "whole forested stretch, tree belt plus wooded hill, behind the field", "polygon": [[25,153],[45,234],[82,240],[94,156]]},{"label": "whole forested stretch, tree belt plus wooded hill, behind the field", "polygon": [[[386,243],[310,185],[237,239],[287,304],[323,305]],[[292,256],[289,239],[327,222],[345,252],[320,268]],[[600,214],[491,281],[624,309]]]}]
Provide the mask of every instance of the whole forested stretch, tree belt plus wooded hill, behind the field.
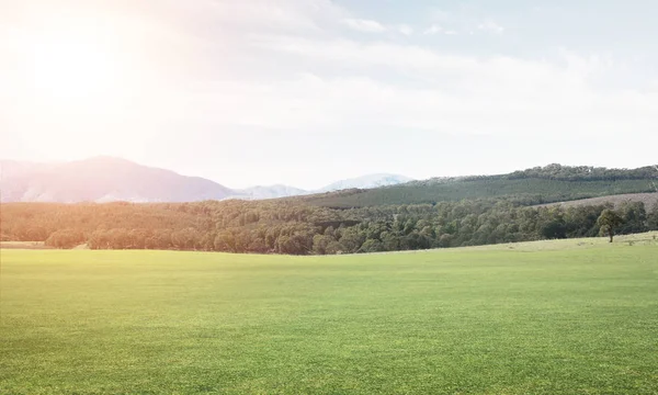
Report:
[{"label": "whole forested stretch, tree belt plus wooded hill, behind the field", "polygon": [[549,165],[269,201],[11,203],[1,239],[55,248],[332,255],[612,236],[658,229],[658,204],[537,204],[657,192],[658,167]]}]

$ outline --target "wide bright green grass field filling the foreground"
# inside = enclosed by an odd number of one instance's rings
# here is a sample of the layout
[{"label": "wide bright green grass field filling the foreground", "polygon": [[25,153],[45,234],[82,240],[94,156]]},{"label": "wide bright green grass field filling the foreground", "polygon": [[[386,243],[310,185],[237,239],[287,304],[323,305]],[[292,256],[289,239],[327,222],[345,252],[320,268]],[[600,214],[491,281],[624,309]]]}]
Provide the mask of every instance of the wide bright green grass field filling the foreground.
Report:
[{"label": "wide bright green grass field filling the foreground", "polygon": [[2,250],[1,394],[656,394],[654,235],[368,256]]}]

